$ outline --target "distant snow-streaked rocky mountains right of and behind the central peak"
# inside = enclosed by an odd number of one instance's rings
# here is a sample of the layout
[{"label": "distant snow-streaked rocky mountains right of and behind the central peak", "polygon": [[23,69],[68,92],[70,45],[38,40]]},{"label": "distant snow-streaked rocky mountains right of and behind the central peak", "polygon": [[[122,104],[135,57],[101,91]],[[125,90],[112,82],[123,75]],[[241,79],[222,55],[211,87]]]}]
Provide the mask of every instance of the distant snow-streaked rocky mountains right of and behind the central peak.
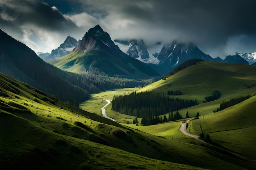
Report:
[{"label": "distant snow-streaked rocky mountains right of and behind the central peak", "polygon": [[[169,44],[164,44],[162,49],[159,49],[159,44],[155,46],[155,52],[148,53],[146,45],[143,40],[114,40],[117,42],[128,55],[137,58],[138,60],[157,65],[168,65],[173,68],[175,66],[193,59],[198,58],[205,61],[214,61],[214,62],[229,62],[229,63],[240,63],[240,64],[249,64],[247,63],[242,55],[229,55],[225,58],[225,60],[220,57],[213,58],[210,55],[203,53],[195,44],[189,43],[179,43],[177,41],[173,41]],[[126,46],[126,48],[124,47]],[[127,48],[128,46],[128,48]],[[152,51],[152,50],[151,50]],[[145,57],[146,56],[146,57]],[[155,58],[155,59],[153,59]]]}]

